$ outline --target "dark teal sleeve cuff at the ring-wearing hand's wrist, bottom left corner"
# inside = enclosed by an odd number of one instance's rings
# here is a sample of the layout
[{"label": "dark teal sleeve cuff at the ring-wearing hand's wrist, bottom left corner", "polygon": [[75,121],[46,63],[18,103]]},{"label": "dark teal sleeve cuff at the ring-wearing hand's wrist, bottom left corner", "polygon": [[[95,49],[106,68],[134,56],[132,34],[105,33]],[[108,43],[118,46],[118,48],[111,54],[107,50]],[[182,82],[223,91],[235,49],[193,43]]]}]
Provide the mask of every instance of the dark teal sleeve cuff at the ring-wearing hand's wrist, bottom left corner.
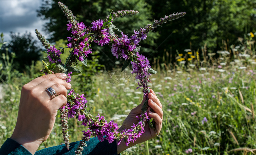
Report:
[{"label": "dark teal sleeve cuff at the ring-wearing hand's wrist, bottom left corner", "polygon": [[1,155],[32,155],[26,148],[15,140],[7,138],[0,148]]}]

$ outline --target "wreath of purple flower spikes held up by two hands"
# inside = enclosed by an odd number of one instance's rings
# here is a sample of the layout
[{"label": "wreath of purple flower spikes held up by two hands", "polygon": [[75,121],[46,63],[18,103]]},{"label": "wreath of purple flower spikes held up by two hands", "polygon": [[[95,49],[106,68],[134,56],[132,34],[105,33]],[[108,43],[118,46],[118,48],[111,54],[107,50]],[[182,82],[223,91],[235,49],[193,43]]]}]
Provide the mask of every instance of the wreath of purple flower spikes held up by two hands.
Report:
[{"label": "wreath of purple flower spikes held up by two hands", "polygon": [[[75,20],[72,11],[69,10],[65,4],[61,2],[58,2],[58,4],[68,18],[67,30],[71,30],[72,34],[71,37],[67,37],[69,43],[67,47],[65,47],[70,49],[70,54],[65,63],[61,62],[60,55],[64,53],[64,48],[60,47],[60,49],[57,49],[55,46],[51,46],[49,41],[36,29],[37,37],[46,48],[45,52],[48,54],[45,61],[50,62],[48,65],[43,61],[45,68],[42,72],[44,74],[65,73],[67,75],[66,82],[71,82],[72,75],[81,73],[81,71],[75,68],[78,62],[80,61],[85,66],[87,65],[86,57],[88,54],[92,53],[92,48],[90,47],[91,42],[95,42],[101,46],[112,44],[111,51],[113,56],[125,59],[122,71],[128,65],[132,64],[131,73],[136,73],[136,79],[138,79],[137,89],[142,89],[145,96],[149,93],[149,77],[151,74],[157,72],[149,65],[149,60],[139,54],[139,42],[145,40],[149,31],[153,31],[157,26],[186,15],[186,12],[171,14],[160,18],[159,21],[155,20],[153,25],[148,24],[137,31],[134,30],[134,34],[131,37],[127,37],[123,32],[121,32],[122,37],[118,37],[118,35],[115,35],[114,30],[120,30],[113,25],[113,20],[120,16],[136,14],[138,11],[121,10],[112,13],[113,10],[111,10],[110,15],[107,16],[106,19],[93,21],[91,23],[92,26],[87,27],[83,22]],[[130,129],[124,129],[121,132],[117,131],[117,123],[113,120],[107,122],[104,116],[98,114],[98,116],[94,117],[90,114],[90,110],[87,110],[87,100],[84,94],[78,95],[74,90],[68,90],[67,100],[67,104],[60,108],[62,133],[67,149],[69,149],[68,119],[77,118],[82,122],[82,125],[88,126],[87,131],[82,131],[82,141],[80,141],[75,154],[82,154],[83,148],[86,146],[85,142],[88,141],[91,136],[97,137],[101,142],[104,141],[104,139],[108,140],[109,143],[116,140],[118,145],[124,140],[125,145],[128,146],[130,142],[134,142],[144,133],[144,127],[147,121],[149,126],[154,128],[154,120],[149,119],[146,112],[149,108],[147,104],[148,98],[144,101],[141,108],[142,112],[138,117],[139,122],[133,124]]]}]

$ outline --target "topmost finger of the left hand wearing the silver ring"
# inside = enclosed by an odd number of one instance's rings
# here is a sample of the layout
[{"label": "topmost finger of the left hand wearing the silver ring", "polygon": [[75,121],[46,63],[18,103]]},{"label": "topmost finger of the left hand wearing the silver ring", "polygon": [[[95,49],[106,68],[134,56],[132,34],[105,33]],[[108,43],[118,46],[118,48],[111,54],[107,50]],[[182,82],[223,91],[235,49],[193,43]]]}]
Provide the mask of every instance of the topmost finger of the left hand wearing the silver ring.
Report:
[{"label": "topmost finger of the left hand wearing the silver ring", "polygon": [[44,75],[44,76],[35,78],[27,84],[29,84],[31,87],[34,87],[34,86],[38,85],[39,83],[41,83],[47,79],[52,79],[52,78],[65,80],[67,78],[67,75],[64,73],[48,74],[48,75]]}]

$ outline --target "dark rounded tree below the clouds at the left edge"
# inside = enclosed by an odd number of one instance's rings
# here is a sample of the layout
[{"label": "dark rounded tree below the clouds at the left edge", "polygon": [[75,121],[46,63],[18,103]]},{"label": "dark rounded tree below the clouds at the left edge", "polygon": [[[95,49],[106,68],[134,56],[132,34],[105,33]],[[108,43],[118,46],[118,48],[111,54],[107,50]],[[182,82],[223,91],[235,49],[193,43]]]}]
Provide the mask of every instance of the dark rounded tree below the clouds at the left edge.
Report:
[{"label": "dark rounded tree below the clouds at the left edge", "polygon": [[37,40],[31,36],[31,33],[10,33],[11,41],[2,47],[1,53],[6,53],[5,48],[8,48],[8,53],[15,53],[13,61],[13,68],[23,72],[26,66],[32,65],[32,60],[35,62],[40,58],[40,46],[37,44]]}]

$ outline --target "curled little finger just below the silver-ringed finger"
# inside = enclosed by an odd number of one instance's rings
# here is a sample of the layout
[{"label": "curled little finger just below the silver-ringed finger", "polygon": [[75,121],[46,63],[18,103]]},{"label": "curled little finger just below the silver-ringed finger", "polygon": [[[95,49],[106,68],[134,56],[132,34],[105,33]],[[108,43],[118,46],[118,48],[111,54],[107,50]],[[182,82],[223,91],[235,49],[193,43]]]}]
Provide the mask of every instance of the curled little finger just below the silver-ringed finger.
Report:
[{"label": "curled little finger just below the silver-ringed finger", "polygon": [[53,110],[58,110],[67,104],[67,98],[65,95],[58,95],[49,102],[49,107]]}]

